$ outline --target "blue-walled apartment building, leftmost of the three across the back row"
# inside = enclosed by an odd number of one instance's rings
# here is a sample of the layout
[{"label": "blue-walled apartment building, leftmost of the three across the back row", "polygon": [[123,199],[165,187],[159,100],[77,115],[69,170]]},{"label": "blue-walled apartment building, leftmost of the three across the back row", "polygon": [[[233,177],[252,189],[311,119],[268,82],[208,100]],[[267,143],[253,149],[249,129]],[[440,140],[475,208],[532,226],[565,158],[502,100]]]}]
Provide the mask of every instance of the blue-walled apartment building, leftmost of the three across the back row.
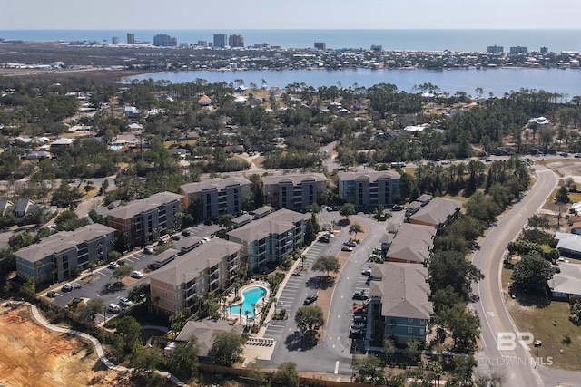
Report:
[{"label": "blue-walled apartment building, leftmost of the three across the back row", "polygon": [[244,200],[251,197],[251,181],[236,177],[208,179],[180,187],[184,208],[192,208],[196,217],[218,218],[224,214],[238,215]]}]

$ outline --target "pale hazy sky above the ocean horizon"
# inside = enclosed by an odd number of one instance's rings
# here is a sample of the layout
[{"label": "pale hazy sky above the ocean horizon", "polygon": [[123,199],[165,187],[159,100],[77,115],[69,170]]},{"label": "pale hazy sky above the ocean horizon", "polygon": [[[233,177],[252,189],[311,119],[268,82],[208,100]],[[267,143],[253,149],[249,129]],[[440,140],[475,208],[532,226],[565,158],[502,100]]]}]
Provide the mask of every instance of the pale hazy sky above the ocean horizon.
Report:
[{"label": "pale hazy sky above the ocean horizon", "polygon": [[0,30],[579,29],[580,0],[0,0]]}]

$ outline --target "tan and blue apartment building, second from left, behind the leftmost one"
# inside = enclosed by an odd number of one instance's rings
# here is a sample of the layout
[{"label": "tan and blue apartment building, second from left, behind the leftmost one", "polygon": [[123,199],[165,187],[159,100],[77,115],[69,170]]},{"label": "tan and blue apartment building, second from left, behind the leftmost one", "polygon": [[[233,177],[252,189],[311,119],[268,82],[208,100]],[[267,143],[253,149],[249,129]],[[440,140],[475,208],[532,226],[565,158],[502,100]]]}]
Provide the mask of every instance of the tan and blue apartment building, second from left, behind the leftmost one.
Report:
[{"label": "tan and blue apartment building, second from left, behind the leftmost one", "polygon": [[107,224],[124,233],[126,248],[142,247],[180,226],[177,213],[182,195],[160,192],[149,198],[133,200],[107,214]]}]

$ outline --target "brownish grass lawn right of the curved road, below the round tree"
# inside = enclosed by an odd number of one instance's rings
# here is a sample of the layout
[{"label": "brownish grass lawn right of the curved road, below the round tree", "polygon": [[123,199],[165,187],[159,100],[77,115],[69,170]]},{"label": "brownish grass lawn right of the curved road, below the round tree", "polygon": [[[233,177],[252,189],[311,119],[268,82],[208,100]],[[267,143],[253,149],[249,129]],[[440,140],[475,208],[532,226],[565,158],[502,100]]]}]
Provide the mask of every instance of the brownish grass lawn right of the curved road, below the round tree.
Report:
[{"label": "brownish grass lawn right of the curved road, below the round tree", "polygon": [[[507,289],[511,273],[512,270],[502,270],[504,289]],[[540,357],[552,357],[554,368],[581,370],[578,358],[581,353],[581,326],[569,321],[568,303],[517,294],[516,299],[508,298],[507,307],[518,330],[531,332],[535,335],[535,340],[543,343],[538,352]],[[566,336],[570,338],[568,344]],[[560,350],[563,350],[563,354]],[[537,356],[537,351],[533,351],[531,355]]]}]

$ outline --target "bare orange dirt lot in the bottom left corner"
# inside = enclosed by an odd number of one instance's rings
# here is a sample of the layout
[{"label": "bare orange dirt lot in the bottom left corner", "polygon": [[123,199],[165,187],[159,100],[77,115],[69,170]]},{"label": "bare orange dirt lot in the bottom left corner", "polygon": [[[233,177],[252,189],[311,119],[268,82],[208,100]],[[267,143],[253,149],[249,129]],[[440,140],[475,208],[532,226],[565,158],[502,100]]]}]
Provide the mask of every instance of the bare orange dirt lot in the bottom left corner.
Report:
[{"label": "bare orange dirt lot in the bottom left corner", "polygon": [[126,375],[108,371],[87,348],[35,324],[26,306],[0,307],[0,385],[127,385]]}]

